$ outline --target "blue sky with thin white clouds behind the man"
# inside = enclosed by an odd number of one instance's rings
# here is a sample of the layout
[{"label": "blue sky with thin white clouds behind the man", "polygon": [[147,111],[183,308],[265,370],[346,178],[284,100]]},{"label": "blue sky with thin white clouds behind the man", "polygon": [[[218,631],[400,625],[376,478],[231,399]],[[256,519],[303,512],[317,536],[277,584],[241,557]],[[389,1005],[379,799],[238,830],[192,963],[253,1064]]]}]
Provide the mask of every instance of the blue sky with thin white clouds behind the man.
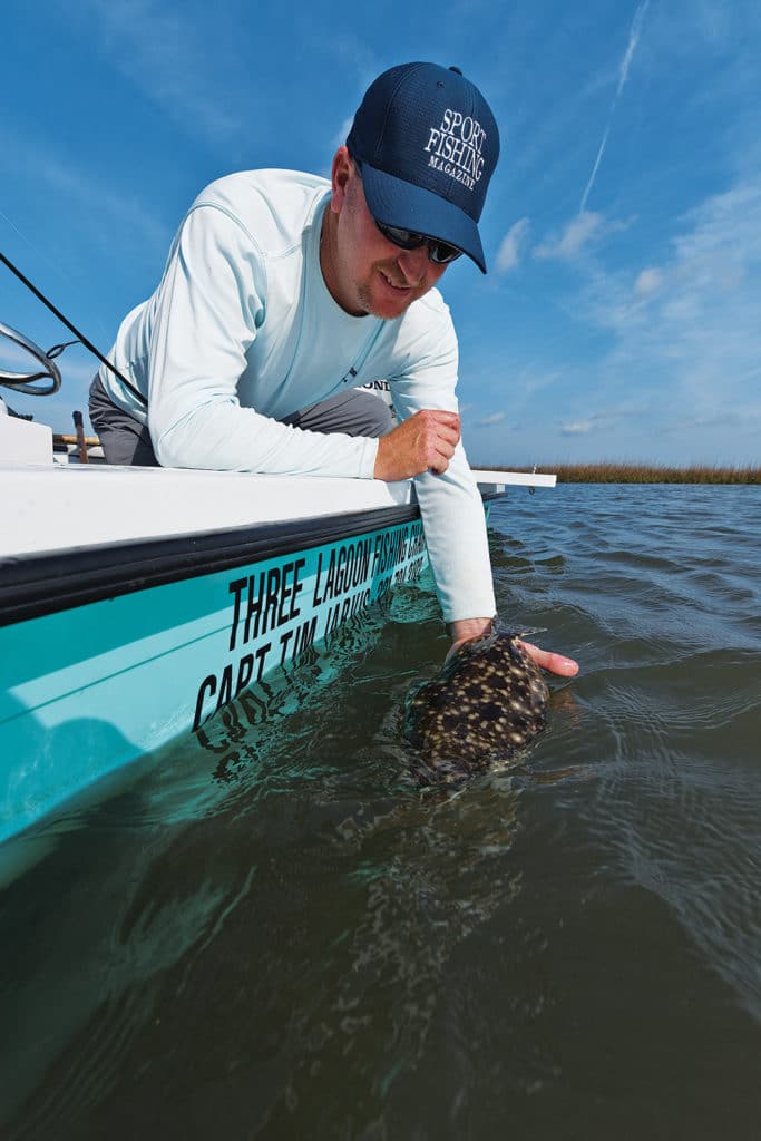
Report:
[{"label": "blue sky with thin white clouds behind the man", "polygon": [[[439,286],[471,462],[760,463],[758,0],[5,0],[0,251],[106,353],[203,186],[327,176],[414,59],[461,67],[500,127],[489,273]],[[2,265],[0,322],[72,335]],[[0,394],[71,431],[97,362],[58,363],[56,396]]]}]

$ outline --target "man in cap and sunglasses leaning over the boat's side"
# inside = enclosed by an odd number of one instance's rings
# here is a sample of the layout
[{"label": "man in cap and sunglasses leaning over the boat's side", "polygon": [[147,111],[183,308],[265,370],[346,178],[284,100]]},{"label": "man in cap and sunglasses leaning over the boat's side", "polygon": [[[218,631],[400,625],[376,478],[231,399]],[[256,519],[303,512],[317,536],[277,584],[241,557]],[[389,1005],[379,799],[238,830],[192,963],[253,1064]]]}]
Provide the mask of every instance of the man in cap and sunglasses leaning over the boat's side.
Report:
[{"label": "man in cap and sunglasses leaning over the boat's side", "polygon": [[[434,289],[478,235],[499,132],[459,68],[392,67],[369,88],[331,183],[219,179],[161,283],[128,314],[90,414],[110,462],[415,478],[453,645],[495,610],[484,512],[460,443],[458,342]],[[374,395],[387,380],[400,423]],[[533,648],[540,665],[575,663]]]}]

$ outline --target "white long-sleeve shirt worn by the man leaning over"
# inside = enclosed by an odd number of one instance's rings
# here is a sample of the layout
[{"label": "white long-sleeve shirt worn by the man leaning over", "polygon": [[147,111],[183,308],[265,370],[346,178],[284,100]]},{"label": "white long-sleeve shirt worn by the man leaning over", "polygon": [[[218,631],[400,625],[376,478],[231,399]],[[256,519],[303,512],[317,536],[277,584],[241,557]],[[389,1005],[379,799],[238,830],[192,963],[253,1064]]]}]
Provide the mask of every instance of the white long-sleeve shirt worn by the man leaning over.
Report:
[{"label": "white long-sleeve shirt worn by the man leaning over", "polygon": [[[184,218],[155,293],[127,315],[105,366],[112,400],[147,422],[165,467],[371,479],[378,440],[274,418],[387,380],[396,412],[456,412],[458,340],[438,290],[395,321],[353,316],[319,267],[330,184],[284,170],[208,186]],[[464,451],[415,478],[445,621],[491,616],[484,511]]]}]

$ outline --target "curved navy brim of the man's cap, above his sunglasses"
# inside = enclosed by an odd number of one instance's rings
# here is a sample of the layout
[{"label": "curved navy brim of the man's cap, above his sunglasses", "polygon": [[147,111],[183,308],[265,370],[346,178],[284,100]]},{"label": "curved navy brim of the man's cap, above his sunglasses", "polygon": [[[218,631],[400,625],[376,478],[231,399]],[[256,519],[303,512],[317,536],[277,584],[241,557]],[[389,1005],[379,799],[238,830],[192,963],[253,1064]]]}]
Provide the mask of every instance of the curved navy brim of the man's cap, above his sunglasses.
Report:
[{"label": "curved navy brim of the man's cap, above his sunglasses", "polygon": [[460,207],[394,175],[362,163],[362,184],[373,218],[386,226],[414,229],[456,245],[486,273],[486,259],[478,226]]}]

